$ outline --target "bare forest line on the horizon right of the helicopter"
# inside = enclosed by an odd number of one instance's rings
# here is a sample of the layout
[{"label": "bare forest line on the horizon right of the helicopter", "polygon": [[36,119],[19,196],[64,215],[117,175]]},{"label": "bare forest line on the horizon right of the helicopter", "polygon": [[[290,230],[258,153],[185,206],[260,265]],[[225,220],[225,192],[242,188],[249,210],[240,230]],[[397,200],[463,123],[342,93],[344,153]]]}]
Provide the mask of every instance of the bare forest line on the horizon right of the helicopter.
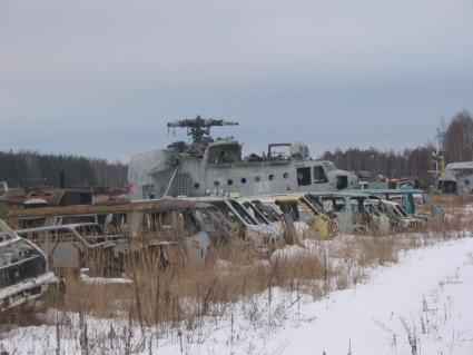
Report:
[{"label": "bare forest line on the horizon right of the helicopter", "polygon": [[[473,116],[464,110],[456,114],[449,125],[438,128],[441,155],[446,162],[473,160]],[[376,148],[325,151],[323,159],[332,160],[341,169],[369,171],[372,176],[386,178],[416,177],[432,179],[428,170],[435,170],[436,145],[428,144],[404,151],[380,151]]]}]

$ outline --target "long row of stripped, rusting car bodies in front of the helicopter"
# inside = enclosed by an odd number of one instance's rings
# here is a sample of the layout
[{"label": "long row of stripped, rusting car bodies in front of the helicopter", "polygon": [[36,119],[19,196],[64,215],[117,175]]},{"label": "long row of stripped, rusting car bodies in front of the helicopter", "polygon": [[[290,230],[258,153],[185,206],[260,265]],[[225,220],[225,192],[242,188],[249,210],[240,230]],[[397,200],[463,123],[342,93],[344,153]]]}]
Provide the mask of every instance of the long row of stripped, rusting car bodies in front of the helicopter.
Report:
[{"label": "long row of stripped, rusting car bodies in front of the helicopter", "polygon": [[[57,273],[87,268],[111,276],[144,250],[156,254],[161,266],[178,260],[198,266],[225,258],[229,240],[267,256],[307,238],[415,230],[430,218],[408,209],[418,196],[425,195],[411,189],[166,198],[17,210],[8,223],[41,248]],[[402,200],[413,205],[405,208]]]}]

